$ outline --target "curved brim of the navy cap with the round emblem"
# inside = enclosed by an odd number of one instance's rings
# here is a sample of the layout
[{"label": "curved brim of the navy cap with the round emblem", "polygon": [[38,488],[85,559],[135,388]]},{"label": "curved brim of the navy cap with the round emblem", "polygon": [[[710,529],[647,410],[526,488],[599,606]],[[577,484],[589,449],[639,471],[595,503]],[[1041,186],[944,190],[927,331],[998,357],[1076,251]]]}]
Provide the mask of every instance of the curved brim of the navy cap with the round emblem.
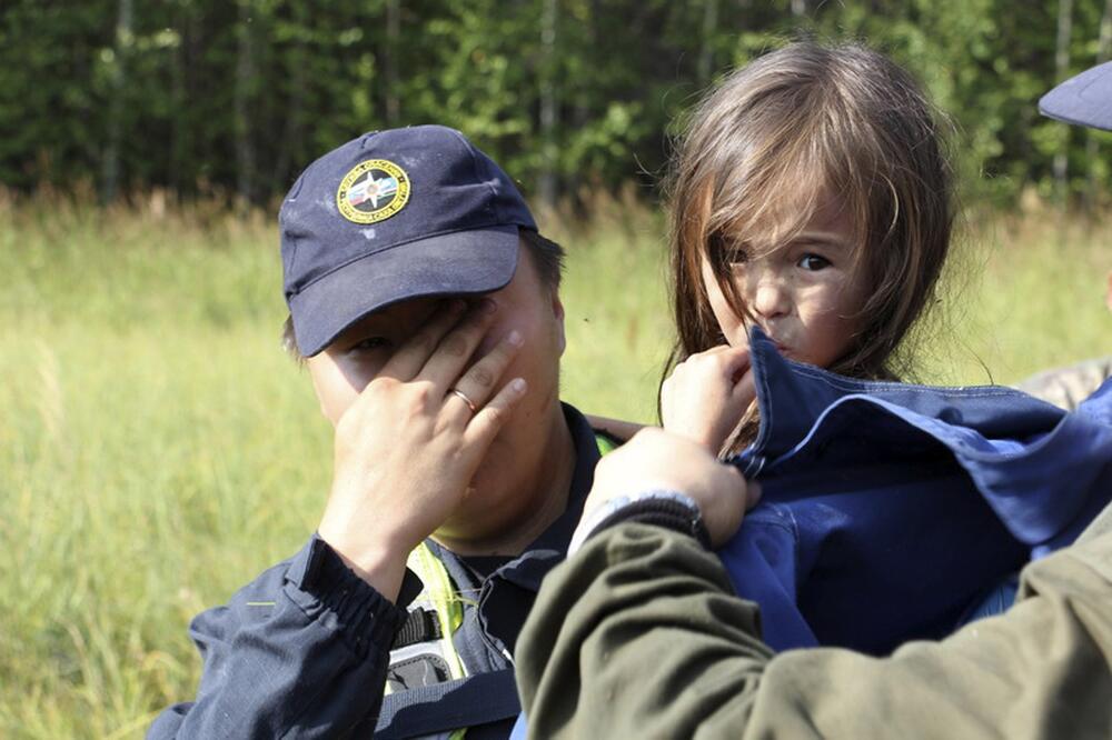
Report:
[{"label": "curved brim of the navy cap with the round emblem", "polygon": [[298,350],[312,357],[363,317],[399,301],[505,288],[517,269],[517,233],[516,226],[498,226],[439,234],[330,272],[289,299]]}]

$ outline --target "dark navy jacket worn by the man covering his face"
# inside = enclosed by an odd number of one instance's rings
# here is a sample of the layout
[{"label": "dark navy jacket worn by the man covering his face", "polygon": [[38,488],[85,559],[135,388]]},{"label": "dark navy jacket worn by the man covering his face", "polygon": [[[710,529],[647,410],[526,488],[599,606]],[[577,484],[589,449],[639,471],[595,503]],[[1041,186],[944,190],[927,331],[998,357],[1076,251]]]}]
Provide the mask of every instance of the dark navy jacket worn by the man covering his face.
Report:
[{"label": "dark navy jacket worn by the man covering his face", "polygon": [[483,578],[430,542],[457,589],[477,593],[453,634],[477,678],[396,692],[384,704],[390,646],[420,583],[407,573],[395,606],[314,537],[193,619],[203,659],[197,697],[165,710],[147,737],[407,738],[473,724],[468,738],[506,737],[519,711],[509,654],[542,578],[564,559],[599,457],[586,419],[567,404],[564,414],[576,451],[567,510],[523,554]]}]

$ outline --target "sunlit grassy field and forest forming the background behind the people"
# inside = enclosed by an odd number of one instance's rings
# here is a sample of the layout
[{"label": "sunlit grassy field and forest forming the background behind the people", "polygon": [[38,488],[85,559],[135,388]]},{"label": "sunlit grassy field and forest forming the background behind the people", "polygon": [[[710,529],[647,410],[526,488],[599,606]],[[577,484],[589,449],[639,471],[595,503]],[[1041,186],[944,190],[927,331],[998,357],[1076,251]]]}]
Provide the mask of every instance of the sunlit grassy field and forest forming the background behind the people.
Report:
[{"label": "sunlit grassy field and forest forming the background behind the people", "polygon": [[671,141],[801,36],[888,52],[954,122],[917,379],[1109,353],[1109,134],[1036,101],[1109,56],[1112,0],[0,0],[0,737],[141,737],[195,694],[190,618],[315,528],[331,430],[278,343],[301,168],[465,131],[568,249],[562,397],[653,421]]}]

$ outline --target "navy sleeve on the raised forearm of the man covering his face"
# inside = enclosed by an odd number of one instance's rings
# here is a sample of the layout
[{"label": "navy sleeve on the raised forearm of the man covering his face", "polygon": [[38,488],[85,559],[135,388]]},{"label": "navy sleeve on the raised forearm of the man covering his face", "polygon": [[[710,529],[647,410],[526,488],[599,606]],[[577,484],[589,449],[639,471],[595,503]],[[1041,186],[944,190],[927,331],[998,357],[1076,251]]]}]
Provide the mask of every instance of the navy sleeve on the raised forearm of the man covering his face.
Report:
[{"label": "navy sleeve on the raised forearm of the man covering his face", "polygon": [[370,734],[404,614],[315,540],[195,620],[197,698],[162,712],[148,738]]}]

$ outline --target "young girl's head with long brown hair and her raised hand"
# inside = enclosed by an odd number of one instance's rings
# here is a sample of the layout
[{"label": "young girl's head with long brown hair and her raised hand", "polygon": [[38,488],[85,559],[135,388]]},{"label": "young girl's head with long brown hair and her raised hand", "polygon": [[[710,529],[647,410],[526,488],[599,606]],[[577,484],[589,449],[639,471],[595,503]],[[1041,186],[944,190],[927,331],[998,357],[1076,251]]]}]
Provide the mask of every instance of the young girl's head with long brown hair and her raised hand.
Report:
[{"label": "young girl's head with long brown hair and her raised hand", "polygon": [[934,111],[858,46],[793,43],[692,113],[669,181],[677,342],[664,427],[737,451],[756,433],[748,331],[785,357],[895,380],[954,219]]}]

